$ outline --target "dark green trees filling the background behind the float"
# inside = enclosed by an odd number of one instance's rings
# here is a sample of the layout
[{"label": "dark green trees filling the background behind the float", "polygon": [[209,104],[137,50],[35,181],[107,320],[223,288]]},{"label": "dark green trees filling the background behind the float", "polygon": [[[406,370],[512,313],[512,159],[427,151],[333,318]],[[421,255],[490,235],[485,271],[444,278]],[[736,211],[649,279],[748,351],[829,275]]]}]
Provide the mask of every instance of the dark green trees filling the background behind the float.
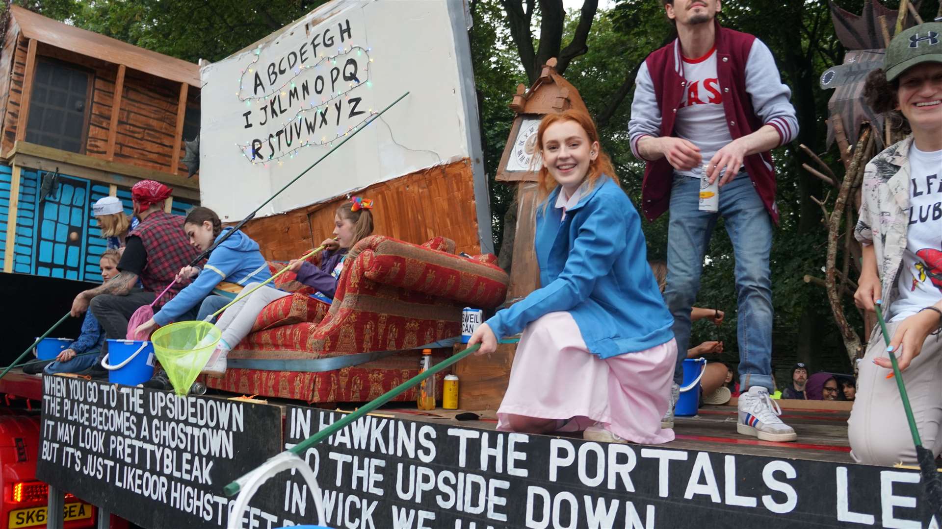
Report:
[{"label": "dark green trees filling the background behind the float", "polygon": [[[252,45],[297,20],[323,0],[21,0],[25,7],[51,18],[124,40],[166,55],[196,61],[219,60]],[[534,2],[534,6],[539,3]],[[860,13],[864,0],[837,0]],[[897,0],[884,2],[896,8]],[[932,6],[930,6],[932,4]],[[469,34],[475,81],[478,88],[484,162],[490,175],[491,210],[495,243],[499,248],[502,220],[512,204],[512,186],[494,181],[497,164],[508,140],[513,113],[508,108],[515,88],[527,83],[517,47],[511,37],[509,17],[501,0],[468,0],[473,27]],[[924,18],[933,16],[934,2],[923,2]],[[578,9],[571,9],[561,36],[543,36],[540,9],[531,22],[533,44],[542,38],[570,42],[577,33]],[[793,145],[773,152],[778,172],[778,205],[781,224],[771,250],[773,281],[774,361],[785,370],[795,357],[810,361],[813,369],[847,371],[850,365],[824,289],[805,283],[804,275],[823,277],[826,232],[820,207],[812,196],[823,199],[822,184],[801,167],[807,162],[797,150],[804,143],[817,152],[837,174],[843,169],[835,149],[824,144],[828,91],[818,88],[818,75],[839,64],[844,50],[836,40],[826,0],[738,0],[723,2],[722,24],[752,33],[772,51],[784,81],[792,88],[792,103],[799,115],[801,136]],[[892,22],[892,21],[891,21]],[[549,24],[560,27],[559,24]],[[519,29],[519,28],[518,28]],[[634,72],[645,56],[673,38],[674,28],[654,0],[618,0],[614,8],[596,13],[584,54],[568,63],[565,77],[575,85],[590,112],[600,120],[603,148],[612,158],[625,191],[640,203],[643,164],[628,147]],[[525,31],[526,33],[526,31]],[[560,39],[561,38],[561,39]],[[667,248],[666,215],[644,224],[651,259],[664,259]],[[846,229],[846,227],[844,228]],[[838,265],[842,265],[842,260]],[[735,259],[723,222],[717,224],[705,260],[698,304],[726,311],[726,323],[716,328],[697,322],[693,343],[722,340],[723,360],[736,363]],[[856,270],[851,267],[851,274]],[[849,297],[845,313],[860,329],[860,319]]]}]

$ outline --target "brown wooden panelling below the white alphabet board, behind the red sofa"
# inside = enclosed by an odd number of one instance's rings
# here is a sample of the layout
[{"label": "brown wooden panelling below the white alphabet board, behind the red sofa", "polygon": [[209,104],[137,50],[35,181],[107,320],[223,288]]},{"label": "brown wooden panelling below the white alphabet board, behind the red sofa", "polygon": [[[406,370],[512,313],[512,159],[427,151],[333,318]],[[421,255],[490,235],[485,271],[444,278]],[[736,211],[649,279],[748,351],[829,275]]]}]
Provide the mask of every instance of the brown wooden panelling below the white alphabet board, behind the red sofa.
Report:
[{"label": "brown wooden panelling below the white alphabet board, behind the red sofa", "polygon": [[[455,241],[456,251],[479,252],[474,177],[466,159],[374,184],[356,195],[373,200],[374,234],[414,244],[444,236]],[[334,211],[346,200],[257,218],[245,232],[266,258],[296,259],[330,236]]]}]

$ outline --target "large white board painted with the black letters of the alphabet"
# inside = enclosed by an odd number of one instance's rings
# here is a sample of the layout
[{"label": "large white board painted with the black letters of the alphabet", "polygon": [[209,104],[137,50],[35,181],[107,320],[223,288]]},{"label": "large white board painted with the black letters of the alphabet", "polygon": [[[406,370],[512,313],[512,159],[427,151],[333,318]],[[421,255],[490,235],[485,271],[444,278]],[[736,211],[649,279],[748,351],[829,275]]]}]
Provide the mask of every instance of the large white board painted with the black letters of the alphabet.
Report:
[{"label": "large white board painted with the black letters of the alphabet", "polygon": [[477,101],[459,72],[467,35],[456,16],[461,3],[331,2],[203,67],[203,205],[245,216],[407,91],[258,216],[473,158],[479,133],[466,115]]}]

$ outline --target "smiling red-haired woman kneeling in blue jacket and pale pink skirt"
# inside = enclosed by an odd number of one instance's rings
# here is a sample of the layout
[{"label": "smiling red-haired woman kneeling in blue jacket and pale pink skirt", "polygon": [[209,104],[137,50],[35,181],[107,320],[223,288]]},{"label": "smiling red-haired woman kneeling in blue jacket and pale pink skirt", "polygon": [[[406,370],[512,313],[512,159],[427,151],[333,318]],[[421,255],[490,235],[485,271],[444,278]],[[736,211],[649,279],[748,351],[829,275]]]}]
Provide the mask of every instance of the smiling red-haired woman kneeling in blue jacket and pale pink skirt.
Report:
[{"label": "smiling red-haired woman kneeling in blue jacket and pale pink skirt", "polygon": [[541,288],[474,332],[479,354],[523,331],[497,428],[583,431],[592,441],[661,443],[676,358],[671,314],[651,268],[641,217],[619,187],[593,120],[540,121],[535,248]]}]

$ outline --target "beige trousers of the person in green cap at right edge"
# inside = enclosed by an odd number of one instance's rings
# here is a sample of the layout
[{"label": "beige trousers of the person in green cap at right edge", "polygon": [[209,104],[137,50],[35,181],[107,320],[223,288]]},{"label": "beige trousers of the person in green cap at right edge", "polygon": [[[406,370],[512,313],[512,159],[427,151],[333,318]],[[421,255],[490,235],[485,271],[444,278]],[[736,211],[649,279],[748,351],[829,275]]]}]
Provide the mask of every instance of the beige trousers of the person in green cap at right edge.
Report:
[{"label": "beige trousers of the person in green cap at right edge", "polygon": [[[886,325],[890,337],[899,323]],[[893,465],[916,464],[916,448],[902,408],[900,390],[891,371],[877,366],[873,359],[887,357],[883,333],[876,329],[860,362],[857,398],[848,420],[851,457],[859,463]],[[930,335],[922,352],[902,372],[909,403],[916,418],[922,446],[937,457],[942,452],[942,336]]]}]

